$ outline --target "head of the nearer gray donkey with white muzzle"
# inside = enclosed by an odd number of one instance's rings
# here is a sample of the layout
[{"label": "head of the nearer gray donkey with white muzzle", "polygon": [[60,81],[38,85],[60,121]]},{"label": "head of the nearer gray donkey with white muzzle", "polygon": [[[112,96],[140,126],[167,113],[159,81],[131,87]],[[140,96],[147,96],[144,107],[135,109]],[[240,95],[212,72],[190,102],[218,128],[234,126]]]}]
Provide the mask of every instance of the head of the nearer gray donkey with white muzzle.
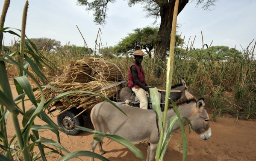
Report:
[{"label": "head of the nearer gray donkey with white muzzle", "polygon": [[207,140],[212,136],[212,131],[209,124],[209,115],[206,112],[205,102],[200,98],[192,105],[191,116],[188,118],[191,121],[194,131],[200,135],[203,140]]}]

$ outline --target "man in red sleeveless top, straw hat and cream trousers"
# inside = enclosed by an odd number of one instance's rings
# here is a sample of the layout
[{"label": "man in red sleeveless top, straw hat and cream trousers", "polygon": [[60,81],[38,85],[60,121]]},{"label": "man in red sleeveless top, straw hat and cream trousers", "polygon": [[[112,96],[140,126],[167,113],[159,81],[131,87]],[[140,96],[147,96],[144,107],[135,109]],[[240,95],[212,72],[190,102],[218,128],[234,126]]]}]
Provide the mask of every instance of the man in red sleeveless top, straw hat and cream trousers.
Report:
[{"label": "man in red sleeveless top, straw hat and cream trousers", "polygon": [[132,89],[140,101],[140,108],[147,109],[146,92],[149,92],[149,87],[147,86],[145,73],[141,66],[143,57],[147,54],[144,54],[141,50],[136,50],[130,55],[134,55],[134,62],[130,65],[128,70],[128,87]]}]

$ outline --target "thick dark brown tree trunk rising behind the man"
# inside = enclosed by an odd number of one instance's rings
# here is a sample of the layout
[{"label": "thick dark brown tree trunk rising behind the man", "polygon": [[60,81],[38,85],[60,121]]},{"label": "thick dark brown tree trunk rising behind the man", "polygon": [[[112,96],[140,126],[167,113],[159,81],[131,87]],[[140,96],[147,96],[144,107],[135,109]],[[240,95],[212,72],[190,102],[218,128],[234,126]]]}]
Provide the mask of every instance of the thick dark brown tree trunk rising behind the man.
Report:
[{"label": "thick dark brown tree trunk rising behind the man", "polygon": [[[182,9],[184,9],[187,3],[188,0],[180,0],[178,14],[182,11]],[[170,3],[162,3],[162,6],[160,6],[161,23],[158,30],[158,36],[160,37],[160,40],[156,46],[156,55],[162,61],[165,61],[166,51],[170,45],[169,40],[174,14],[174,4],[175,0],[172,0]]]}]

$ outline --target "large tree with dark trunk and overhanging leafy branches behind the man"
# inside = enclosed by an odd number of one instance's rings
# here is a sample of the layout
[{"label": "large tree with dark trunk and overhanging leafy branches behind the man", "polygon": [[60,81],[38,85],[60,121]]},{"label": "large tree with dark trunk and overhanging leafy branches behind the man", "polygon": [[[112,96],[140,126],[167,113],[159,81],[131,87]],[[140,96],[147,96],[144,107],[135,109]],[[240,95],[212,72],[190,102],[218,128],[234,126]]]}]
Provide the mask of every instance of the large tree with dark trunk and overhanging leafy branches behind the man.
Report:
[{"label": "large tree with dark trunk and overhanging leafy branches behind the man", "polygon": [[[184,9],[189,0],[179,0],[178,14]],[[213,5],[216,0],[194,0],[196,5],[203,5],[204,9]],[[115,0],[77,0],[78,5],[86,6],[88,11],[94,11],[94,22],[97,24],[106,23],[106,11],[109,3],[114,3]],[[158,45],[156,54],[161,60],[165,60],[167,49],[169,47],[169,39],[171,34],[172,19],[174,14],[175,0],[127,0],[129,6],[136,3],[141,3],[143,9],[147,11],[148,16],[161,18],[161,23],[158,30]]]}]

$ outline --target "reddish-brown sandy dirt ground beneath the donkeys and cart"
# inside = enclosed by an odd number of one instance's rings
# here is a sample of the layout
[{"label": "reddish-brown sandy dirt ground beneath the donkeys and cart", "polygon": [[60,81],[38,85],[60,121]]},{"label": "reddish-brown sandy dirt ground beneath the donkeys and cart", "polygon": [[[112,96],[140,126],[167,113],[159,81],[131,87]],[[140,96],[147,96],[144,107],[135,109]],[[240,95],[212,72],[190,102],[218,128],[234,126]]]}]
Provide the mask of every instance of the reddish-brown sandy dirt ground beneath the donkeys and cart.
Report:
[{"label": "reddish-brown sandy dirt ground beneath the donkeys and cart", "polygon": [[[15,93],[15,86],[11,82],[14,98],[18,95]],[[31,106],[30,102],[26,102],[26,109]],[[207,109],[207,108],[206,108]],[[53,112],[56,115],[58,111]],[[20,124],[21,124],[21,117]],[[56,117],[52,118],[56,123]],[[146,121],[146,119],[145,119]],[[8,137],[15,135],[12,120],[9,116],[7,123]],[[35,124],[44,125],[43,121],[38,118]],[[216,122],[211,121],[212,138],[207,141],[202,140],[195,132],[188,133],[188,126],[185,126],[187,141],[188,141],[188,161],[249,161],[256,160],[256,122],[238,120],[235,123],[235,118],[231,117],[217,117]],[[88,124],[87,127],[91,127]],[[39,133],[40,137],[45,137],[57,141],[56,135],[50,130],[42,130]],[[182,160],[181,148],[181,132],[177,130],[172,133],[174,136],[168,146],[165,154],[165,161]],[[71,152],[77,150],[90,150],[90,143],[93,134],[88,132],[81,132],[77,136],[66,135],[60,133],[61,144]],[[111,141],[107,138],[103,139],[103,150],[107,153],[103,156],[110,161],[137,161],[138,158],[133,155],[127,148]],[[147,156],[147,144],[136,145]],[[99,153],[98,147],[95,152]],[[49,161],[59,160],[61,157],[57,155],[50,155],[47,157]],[[88,161],[90,158],[81,157],[83,161]],[[77,158],[74,161],[79,160]]]}]

